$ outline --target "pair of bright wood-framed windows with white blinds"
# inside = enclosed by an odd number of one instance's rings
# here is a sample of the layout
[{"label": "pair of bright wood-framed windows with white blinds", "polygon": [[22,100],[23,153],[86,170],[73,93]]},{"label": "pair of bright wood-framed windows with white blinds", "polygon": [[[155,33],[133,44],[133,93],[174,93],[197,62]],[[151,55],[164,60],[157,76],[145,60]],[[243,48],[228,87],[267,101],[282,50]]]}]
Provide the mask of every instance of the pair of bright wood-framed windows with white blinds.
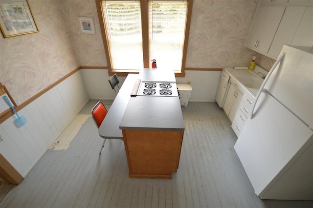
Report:
[{"label": "pair of bright wood-framed windows with white blinds", "polygon": [[109,70],[151,68],[156,59],[157,68],[180,72],[187,6],[182,0],[103,0]]}]

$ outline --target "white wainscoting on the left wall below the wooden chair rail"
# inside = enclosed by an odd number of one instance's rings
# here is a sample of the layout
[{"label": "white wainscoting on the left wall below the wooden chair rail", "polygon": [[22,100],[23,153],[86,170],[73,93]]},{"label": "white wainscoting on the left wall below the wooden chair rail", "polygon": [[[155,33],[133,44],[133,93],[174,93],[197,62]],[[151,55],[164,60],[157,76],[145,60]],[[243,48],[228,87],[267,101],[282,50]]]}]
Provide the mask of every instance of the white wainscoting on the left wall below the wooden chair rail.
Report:
[{"label": "white wainscoting on the left wall below the wooden chair rail", "polygon": [[15,115],[0,124],[0,153],[25,177],[88,101],[79,70],[18,112],[25,125],[17,128]]}]

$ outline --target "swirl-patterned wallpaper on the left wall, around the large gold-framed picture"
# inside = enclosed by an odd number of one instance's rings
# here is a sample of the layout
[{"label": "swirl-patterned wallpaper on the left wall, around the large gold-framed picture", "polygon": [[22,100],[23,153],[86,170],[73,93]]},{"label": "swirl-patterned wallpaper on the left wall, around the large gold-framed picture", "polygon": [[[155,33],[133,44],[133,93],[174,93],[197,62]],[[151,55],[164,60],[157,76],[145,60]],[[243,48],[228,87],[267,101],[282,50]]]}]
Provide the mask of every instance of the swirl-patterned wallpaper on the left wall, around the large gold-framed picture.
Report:
[{"label": "swirl-patterned wallpaper on the left wall, around the large gold-framed picture", "polygon": [[79,66],[59,0],[29,0],[39,33],[0,36],[0,82],[21,104]]}]

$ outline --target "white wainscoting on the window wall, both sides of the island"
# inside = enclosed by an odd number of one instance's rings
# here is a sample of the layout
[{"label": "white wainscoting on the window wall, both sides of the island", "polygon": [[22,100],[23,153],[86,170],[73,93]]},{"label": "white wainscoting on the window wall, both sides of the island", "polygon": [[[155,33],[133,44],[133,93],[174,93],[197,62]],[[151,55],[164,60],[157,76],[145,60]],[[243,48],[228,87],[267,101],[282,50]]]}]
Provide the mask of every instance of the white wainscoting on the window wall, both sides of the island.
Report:
[{"label": "white wainscoting on the window wall, both sides of the island", "polygon": [[[157,69],[156,69],[157,70]],[[116,94],[108,82],[107,69],[81,69],[90,99],[114,100]],[[177,77],[177,83],[190,82],[191,98],[195,102],[215,102],[221,71],[185,71],[185,77]],[[118,77],[119,86],[126,77]]]}]

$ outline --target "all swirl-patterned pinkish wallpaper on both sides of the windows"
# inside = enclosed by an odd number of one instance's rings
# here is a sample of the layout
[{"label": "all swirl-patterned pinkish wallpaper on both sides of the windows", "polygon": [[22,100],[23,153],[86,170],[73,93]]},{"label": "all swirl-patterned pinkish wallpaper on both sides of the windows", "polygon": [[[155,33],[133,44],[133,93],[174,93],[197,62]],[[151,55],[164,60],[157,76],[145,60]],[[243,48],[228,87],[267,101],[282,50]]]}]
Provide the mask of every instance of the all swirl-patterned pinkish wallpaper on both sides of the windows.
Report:
[{"label": "all swirl-patterned pinkish wallpaper on both sides of the windows", "polygon": [[[17,104],[79,66],[107,66],[95,0],[29,0],[39,33],[0,35],[0,82]],[[244,47],[258,0],[194,0],[186,67],[223,68],[274,60]],[[78,17],[92,17],[82,34]]]}]

